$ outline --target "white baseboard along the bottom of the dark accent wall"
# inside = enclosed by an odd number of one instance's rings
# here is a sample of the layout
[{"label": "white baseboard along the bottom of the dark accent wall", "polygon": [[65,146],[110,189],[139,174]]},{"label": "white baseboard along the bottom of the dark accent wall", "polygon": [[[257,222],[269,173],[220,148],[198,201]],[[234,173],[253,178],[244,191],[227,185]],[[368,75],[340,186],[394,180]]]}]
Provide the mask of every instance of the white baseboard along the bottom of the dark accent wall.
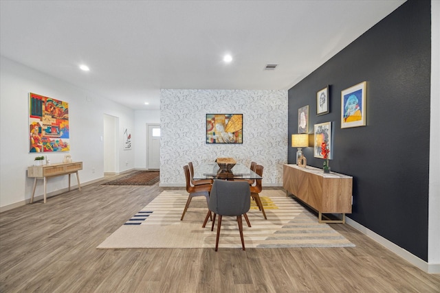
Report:
[{"label": "white baseboard along the bottom of the dark accent wall", "polygon": [[366,228],[359,224],[358,222],[355,222],[351,220],[350,218],[346,217],[347,224],[355,228],[356,230],[360,231],[360,233],[370,237],[371,239],[375,240],[375,242],[381,244],[388,250],[391,250],[391,252],[395,253],[402,259],[405,259],[409,263],[411,263],[413,266],[417,266],[420,270],[423,270],[424,272],[427,272],[428,274],[439,274],[440,273],[440,263],[427,263],[426,261],[423,261],[423,259],[420,259],[419,257],[416,257],[412,253],[410,253],[408,250],[405,250],[404,248],[401,248],[400,246],[394,244],[393,242],[389,241],[388,239],[378,235],[377,233],[374,233],[369,228]]}]

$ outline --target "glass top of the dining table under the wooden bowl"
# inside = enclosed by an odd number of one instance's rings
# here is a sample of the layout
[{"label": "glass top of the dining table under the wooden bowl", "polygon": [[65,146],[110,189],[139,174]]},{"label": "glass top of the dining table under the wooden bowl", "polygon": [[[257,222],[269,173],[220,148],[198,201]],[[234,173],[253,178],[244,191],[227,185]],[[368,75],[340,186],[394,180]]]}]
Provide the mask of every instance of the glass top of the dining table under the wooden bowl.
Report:
[{"label": "glass top of the dining table under the wooden bowl", "polygon": [[256,174],[250,169],[250,167],[243,165],[242,163],[236,163],[230,171],[223,171],[219,165],[215,162],[202,163],[194,167],[195,180],[201,179],[262,179],[263,177]]}]

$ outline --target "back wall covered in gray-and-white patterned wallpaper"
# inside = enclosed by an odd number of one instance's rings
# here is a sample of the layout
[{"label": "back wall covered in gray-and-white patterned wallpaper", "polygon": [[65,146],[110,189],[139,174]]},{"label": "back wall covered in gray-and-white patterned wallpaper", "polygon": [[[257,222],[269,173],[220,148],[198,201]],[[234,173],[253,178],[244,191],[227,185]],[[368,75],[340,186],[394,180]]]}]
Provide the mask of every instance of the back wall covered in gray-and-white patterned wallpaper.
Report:
[{"label": "back wall covered in gray-and-white patterned wallpaper", "polygon": [[[243,114],[242,144],[207,144],[206,114]],[[287,91],[160,91],[160,186],[184,186],[184,165],[232,157],[264,166],[263,184],[283,185],[287,163]]]}]

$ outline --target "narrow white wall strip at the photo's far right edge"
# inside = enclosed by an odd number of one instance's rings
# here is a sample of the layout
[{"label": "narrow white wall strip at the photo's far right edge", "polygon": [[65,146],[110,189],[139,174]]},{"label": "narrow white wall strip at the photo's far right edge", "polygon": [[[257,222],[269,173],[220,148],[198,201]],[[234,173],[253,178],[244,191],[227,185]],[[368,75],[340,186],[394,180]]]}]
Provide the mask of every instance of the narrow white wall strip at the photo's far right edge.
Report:
[{"label": "narrow white wall strip at the photo's far right edge", "polygon": [[[431,1],[431,116],[428,263],[440,267],[440,1]],[[437,273],[440,269],[437,270]]]}]

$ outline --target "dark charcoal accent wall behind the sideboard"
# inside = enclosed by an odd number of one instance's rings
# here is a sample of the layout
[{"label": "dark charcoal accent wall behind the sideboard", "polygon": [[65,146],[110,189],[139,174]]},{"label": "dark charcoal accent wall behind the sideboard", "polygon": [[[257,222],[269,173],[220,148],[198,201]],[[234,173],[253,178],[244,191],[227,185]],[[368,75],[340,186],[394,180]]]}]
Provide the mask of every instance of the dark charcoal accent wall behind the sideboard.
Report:
[{"label": "dark charcoal accent wall behind the sideboard", "polygon": [[[314,124],[333,122],[331,170],[353,176],[349,218],[424,261],[430,47],[430,1],[409,0],[289,89],[289,134],[298,132],[298,108],[306,105],[310,134]],[[341,91],[364,81],[366,126],[341,129]],[[327,84],[330,113],[317,116],[316,92]],[[303,152],[307,165],[322,167],[312,148]],[[289,147],[289,163],[295,155]]]}]

